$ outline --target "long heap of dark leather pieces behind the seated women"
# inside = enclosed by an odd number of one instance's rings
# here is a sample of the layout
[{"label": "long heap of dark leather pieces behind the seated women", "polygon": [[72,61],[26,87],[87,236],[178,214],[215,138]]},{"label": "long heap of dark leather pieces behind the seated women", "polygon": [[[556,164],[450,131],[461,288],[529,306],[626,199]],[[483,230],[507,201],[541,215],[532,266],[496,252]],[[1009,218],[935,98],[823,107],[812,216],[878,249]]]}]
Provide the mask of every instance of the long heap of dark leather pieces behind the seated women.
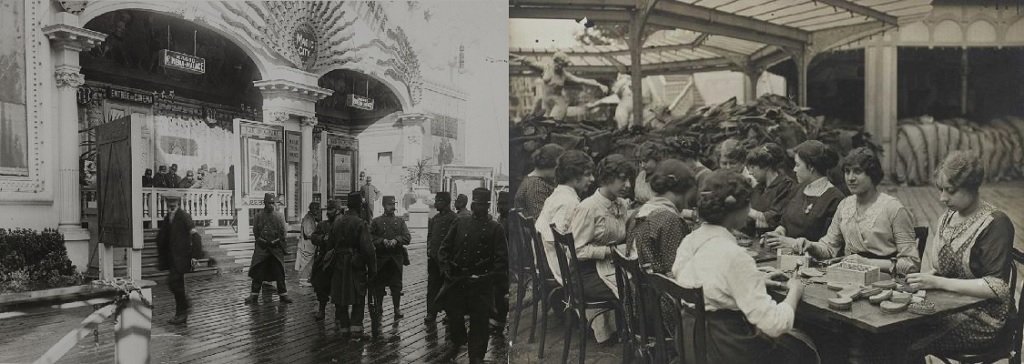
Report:
[{"label": "long heap of dark leather pieces behind the seated women", "polygon": [[826,122],[824,117],[812,116],[809,112],[810,108],[800,107],[785,96],[767,94],[748,104],[730,98],[666,120],[659,127],[615,130],[614,120],[556,124],[552,120],[526,119],[509,126],[511,187],[516,188],[522,176],[532,169],[529,157],[534,151],[548,143],[585,151],[596,162],[610,154],[633,158],[633,150],[646,140],[664,141],[682,136],[695,140],[702,162],[709,167],[717,165],[718,147],[729,138],[739,139],[740,146],[748,148],[776,143],[787,150],[816,138],[837,146],[841,155],[861,146],[882,150],[862,130],[836,125],[835,120]]}]

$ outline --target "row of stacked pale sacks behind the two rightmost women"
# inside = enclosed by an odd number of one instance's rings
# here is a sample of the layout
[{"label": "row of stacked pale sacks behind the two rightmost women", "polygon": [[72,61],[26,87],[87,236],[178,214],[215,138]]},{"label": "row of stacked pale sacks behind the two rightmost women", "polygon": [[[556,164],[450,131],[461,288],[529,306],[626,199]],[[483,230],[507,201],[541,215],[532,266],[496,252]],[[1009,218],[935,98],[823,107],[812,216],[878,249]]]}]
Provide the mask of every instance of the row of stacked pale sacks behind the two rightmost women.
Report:
[{"label": "row of stacked pale sacks behind the two rightmost women", "polygon": [[900,120],[896,134],[895,177],[928,185],[935,168],[952,151],[972,150],[985,164],[988,181],[1024,177],[1024,119],[1002,117],[986,123],[925,116]]}]

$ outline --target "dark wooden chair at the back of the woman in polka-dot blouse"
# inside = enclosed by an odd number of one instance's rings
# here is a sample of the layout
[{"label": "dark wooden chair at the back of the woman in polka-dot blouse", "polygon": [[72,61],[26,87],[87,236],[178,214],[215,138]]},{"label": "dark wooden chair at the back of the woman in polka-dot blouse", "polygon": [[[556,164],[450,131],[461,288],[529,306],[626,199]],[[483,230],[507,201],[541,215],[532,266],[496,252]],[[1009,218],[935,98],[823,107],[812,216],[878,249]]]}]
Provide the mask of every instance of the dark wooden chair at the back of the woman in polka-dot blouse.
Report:
[{"label": "dark wooden chair at the back of the woman in polka-dot blouse", "polygon": [[[623,363],[632,359],[652,362],[651,348],[654,342],[650,334],[652,328],[647,327],[649,315],[647,312],[650,299],[650,285],[647,274],[640,269],[640,261],[623,256],[617,250],[612,251],[612,262],[615,265],[615,283],[618,285],[620,311],[623,313]],[[656,306],[654,306],[656,308]],[[652,320],[652,322],[658,322]]]}]

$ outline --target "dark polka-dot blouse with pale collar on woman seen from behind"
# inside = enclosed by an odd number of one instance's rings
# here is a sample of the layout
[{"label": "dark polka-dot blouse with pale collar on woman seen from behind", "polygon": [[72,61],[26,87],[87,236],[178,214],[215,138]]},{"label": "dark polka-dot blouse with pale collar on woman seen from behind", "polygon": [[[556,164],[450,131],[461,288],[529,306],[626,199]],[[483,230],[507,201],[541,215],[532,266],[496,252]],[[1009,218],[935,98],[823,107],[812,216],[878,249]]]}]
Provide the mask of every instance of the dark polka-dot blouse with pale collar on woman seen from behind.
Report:
[{"label": "dark polka-dot blouse with pale collar on woman seen from behind", "polygon": [[647,201],[628,226],[626,242],[638,252],[640,266],[662,274],[672,270],[679,243],[690,233],[676,206],[664,197]]}]

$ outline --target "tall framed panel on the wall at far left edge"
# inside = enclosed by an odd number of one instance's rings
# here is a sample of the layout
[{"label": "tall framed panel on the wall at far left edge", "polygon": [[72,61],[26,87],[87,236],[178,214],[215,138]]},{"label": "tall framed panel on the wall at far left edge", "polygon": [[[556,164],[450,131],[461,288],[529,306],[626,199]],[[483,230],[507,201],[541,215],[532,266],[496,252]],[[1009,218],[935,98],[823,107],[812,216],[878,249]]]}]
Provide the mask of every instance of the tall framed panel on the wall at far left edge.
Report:
[{"label": "tall framed panel on the wall at far left edge", "polygon": [[25,3],[0,0],[0,177],[29,176]]}]

